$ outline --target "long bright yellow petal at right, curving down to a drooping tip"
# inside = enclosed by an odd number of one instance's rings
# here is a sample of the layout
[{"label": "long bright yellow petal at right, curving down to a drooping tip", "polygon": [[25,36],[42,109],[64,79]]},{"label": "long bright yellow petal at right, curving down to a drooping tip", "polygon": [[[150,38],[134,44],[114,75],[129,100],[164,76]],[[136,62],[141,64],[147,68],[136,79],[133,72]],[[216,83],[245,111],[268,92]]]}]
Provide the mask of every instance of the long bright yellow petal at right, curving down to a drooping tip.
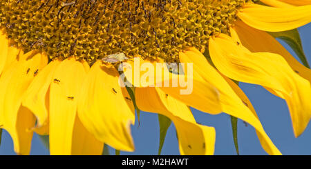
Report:
[{"label": "long bright yellow petal at right, curving down to a drooping tip", "polygon": [[225,34],[209,40],[209,52],[216,68],[225,76],[280,93],[288,103],[294,134],[301,135],[311,117],[311,87],[283,57],[270,52],[249,52]]}]

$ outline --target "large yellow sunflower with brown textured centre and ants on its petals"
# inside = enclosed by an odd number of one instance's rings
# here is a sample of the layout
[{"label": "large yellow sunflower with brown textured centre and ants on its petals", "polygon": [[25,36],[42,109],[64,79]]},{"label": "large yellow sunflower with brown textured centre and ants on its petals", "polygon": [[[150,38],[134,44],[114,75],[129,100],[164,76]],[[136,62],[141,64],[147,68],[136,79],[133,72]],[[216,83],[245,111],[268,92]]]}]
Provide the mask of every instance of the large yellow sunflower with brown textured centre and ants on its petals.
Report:
[{"label": "large yellow sunflower with brown textured centre and ants on its petals", "polygon": [[[215,130],[196,123],[191,106],[246,121],[256,129],[263,149],[280,155],[234,81],[261,85],[285,99],[294,135],[301,135],[311,115],[310,69],[265,31],[309,23],[310,4],[308,0],[1,1],[0,126],[10,133],[19,155],[29,154],[33,132],[49,135],[50,155],[100,155],[104,143],[133,151],[130,126],[136,108],[173,121],[181,155],[213,155]],[[169,79],[159,82],[154,75],[157,82],[142,86],[134,81],[137,71],[123,70],[133,84],[124,88],[117,69],[120,62],[104,61],[117,53],[134,68],[142,63],[193,63],[193,76],[188,76],[191,69],[186,64],[185,74],[165,70]],[[193,81],[189,95],[180,95],[182,86],[156,85],[180,77]]]}]

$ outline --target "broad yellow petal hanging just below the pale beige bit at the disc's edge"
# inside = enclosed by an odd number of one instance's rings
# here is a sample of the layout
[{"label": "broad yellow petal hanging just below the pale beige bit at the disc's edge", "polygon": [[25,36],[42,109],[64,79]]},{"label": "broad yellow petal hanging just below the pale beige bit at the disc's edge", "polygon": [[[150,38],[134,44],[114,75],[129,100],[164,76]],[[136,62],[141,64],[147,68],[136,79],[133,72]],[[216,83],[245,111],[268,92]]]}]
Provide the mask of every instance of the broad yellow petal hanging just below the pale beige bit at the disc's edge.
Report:
[{"label": "broad yellow petal hanging just below the pale beige bit at the disc's edge", "polygon": [[131,123],[135,110],[126,88],[119,84],[119,72],[97,61],[81,88],[78,115],[95,137],[117,150],[133,151]]}]

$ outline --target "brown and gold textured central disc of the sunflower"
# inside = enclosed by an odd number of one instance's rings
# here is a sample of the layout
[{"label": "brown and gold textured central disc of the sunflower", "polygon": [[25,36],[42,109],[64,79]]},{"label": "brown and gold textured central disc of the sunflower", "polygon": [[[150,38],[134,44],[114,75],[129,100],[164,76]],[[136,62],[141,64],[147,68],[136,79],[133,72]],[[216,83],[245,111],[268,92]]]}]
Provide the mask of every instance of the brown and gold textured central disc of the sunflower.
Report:
[{"label": "brown and gold textured central disc of the sunflower", "polygon": [[25,52],[89,63],[111,54],[178,61],[188,47],[203,51],[228,34],[250,0],[4,0],[0,27]]}]

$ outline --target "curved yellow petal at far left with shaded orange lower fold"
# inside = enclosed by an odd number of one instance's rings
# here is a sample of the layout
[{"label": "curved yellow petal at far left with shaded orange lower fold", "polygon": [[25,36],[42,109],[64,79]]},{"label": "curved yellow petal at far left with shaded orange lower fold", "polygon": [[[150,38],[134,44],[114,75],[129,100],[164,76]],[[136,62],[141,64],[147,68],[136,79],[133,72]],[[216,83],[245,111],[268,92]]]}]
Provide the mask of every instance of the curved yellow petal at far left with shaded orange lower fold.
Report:
[{"label": "curved yellow petal at far left with shaded orange lower fold", "polygon": [[35,117],[21,107],[21,100],[34,78],[33,73],[46,66],[48,60],[46,56],[32,52],[24,55],[28,60],[14,61],[0,77],[0,119],[14,141],[15,152],[28,155],[32,138],[30,128],[34,125],[32,122],[35,122]]}]

